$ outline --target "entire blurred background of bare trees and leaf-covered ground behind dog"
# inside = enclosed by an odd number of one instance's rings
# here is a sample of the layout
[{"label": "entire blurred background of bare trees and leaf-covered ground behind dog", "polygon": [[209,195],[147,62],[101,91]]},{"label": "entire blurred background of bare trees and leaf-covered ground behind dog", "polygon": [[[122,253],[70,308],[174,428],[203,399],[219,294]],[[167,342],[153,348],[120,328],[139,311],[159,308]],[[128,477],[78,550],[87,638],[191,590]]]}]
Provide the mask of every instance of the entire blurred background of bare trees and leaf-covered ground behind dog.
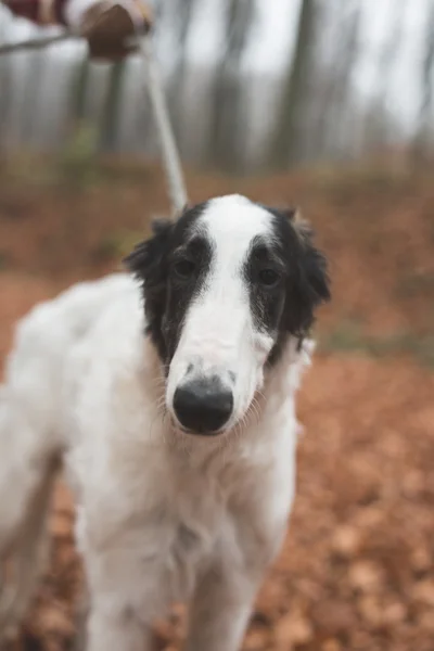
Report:
[{"label": "entire blurred background of bare trees and leaf-covered ground behind dog", "polygon": [[[298,205],[330,260],[295,510],[243,651],[433,651],[434,0],[156,10],[190,200]],[[0,43],[35,33],[0,8]],[[86,54],[0,56],[0,367],[18,318],[119,269],[167,214],[140,59]],[[14,651],[73,648],[73,521],[60,485],[50,571]],[[158,651],[181,649],[184,610],[158,631]]]}]

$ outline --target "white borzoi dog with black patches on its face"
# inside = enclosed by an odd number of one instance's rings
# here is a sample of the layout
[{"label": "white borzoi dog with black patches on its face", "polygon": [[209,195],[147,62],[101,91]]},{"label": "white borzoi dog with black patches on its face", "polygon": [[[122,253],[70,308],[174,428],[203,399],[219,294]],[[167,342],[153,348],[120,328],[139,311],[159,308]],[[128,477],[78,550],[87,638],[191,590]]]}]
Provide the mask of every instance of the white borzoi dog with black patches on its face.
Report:
[{"label": "white borzoi dog with black patches on its face", "polygon": [[21,617],[62,459],[77,505],[88,651],[149,651],[190,601],[188,651],[239,649],[294,496],[294,398],[326,259],[292,212],[187,208],[21,321],[0,401],[0,558]]}]

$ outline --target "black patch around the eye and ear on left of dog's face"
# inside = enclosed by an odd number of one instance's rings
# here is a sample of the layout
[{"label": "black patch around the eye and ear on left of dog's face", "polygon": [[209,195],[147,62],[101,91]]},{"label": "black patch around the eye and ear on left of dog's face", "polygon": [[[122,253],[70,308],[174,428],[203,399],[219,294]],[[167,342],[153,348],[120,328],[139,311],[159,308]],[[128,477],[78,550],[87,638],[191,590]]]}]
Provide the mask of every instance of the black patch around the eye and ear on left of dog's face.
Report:
[{"label": "black patch around the eye and ear on left of dog's face", "polygon": [[210,244],[194,228],[206,206],[207,202],[187,208],[176,222],[156,222],[153,237],[125,259],[142,283],[146,332],[166,365],[175,354],[187,310],[210,268]]}]

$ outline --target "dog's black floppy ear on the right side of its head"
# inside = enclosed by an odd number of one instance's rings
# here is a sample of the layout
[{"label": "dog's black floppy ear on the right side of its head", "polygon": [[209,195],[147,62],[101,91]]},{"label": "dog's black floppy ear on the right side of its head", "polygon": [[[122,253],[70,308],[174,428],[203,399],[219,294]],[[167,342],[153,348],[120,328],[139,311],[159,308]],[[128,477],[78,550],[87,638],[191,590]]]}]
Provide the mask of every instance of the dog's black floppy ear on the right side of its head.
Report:
[{"label": "dog's black floppy ear on the right side of its head", "polygon": [[303,339],[314,324],[316,308],[330,301],[330,279],[326,256],[314,244],[314,232],[298,212],[290,218],[295,233],[295,269],[289,277],[285,306],[286,328]]}]

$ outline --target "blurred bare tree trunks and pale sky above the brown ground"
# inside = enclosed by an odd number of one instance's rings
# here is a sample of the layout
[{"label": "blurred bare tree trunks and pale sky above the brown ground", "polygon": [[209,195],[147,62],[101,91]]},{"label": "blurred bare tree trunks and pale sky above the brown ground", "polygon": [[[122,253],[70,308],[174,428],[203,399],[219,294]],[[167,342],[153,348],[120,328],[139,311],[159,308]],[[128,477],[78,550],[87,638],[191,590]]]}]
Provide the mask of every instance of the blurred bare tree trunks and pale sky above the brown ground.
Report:
[{"label": "blurred bare tree trunks and pale sky above the brown ground", "polygon": [[[183,158],[257,171],[433,148],[433,0],[157,0],[156,40]],[[0,10],[0,41],[33,28]],[[138,58],[65,43],[0,59],[0,148],[153,155]]]}]

